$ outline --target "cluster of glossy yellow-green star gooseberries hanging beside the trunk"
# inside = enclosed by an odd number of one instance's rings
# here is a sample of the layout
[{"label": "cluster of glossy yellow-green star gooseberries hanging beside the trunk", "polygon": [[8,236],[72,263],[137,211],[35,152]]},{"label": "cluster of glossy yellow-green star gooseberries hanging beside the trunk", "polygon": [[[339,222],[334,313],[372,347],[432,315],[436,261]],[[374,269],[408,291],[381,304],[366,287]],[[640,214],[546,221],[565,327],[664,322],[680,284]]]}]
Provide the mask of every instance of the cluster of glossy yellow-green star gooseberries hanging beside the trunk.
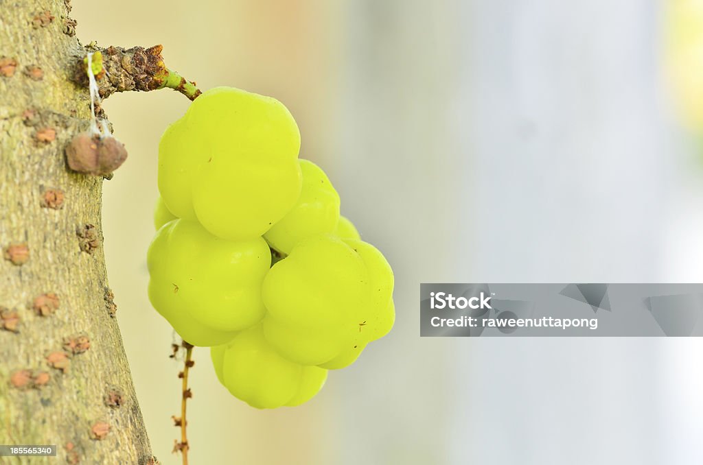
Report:
[{"label": "cluster of glossy yellow-green star gooseberries hanging beside the trunk", "polygon": [[307,402],[394,322],[388,262],[299,148],[283,104],[226,87],[198,97],[159,146],[150,301],[257,408]]}]

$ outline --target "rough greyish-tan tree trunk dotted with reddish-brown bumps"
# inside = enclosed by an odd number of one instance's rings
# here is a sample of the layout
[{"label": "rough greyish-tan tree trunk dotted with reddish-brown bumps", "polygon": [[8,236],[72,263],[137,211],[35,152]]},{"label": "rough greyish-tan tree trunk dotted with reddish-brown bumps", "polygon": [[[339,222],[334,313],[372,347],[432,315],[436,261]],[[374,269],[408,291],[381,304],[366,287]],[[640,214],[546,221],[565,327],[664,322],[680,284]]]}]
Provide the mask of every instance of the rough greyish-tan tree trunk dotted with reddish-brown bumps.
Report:
[{"label": "rough greyish-tan tree trunk dotted with reddish-brown bumps", "polygon": [[90,121],[69,1],[0,0],[0,444],[155,463],[105,273],[103,179],[65,162]]}]

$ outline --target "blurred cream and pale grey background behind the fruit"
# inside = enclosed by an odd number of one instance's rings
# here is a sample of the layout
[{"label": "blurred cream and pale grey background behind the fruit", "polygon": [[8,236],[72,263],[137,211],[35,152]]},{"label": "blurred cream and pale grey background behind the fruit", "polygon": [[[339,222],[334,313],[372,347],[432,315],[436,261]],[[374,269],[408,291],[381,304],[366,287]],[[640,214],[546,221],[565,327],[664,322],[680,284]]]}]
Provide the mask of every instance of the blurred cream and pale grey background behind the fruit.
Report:
[{"label": "blurred cream and pale grey background behind the fruit", "polygon": [[[79,38],[164,45],[274,96],[396,273],[394,331],[302,407],[231,397],[196,349],[193,464],[699,464],[698,339],[420,339],[420,282],[703,282],[700,0],[75,2]],[[146,296],[157,145],[188,100],[105,102],[110,284],[154,453],[179,431]]]}]

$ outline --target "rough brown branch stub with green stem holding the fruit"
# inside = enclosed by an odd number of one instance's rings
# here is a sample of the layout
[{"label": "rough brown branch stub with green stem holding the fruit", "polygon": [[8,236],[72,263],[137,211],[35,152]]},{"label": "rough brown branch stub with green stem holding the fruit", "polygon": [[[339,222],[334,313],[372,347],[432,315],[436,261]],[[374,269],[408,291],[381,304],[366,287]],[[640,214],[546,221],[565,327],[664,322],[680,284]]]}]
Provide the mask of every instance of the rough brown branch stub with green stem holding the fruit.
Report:
[{"label": "rough brown branch stub with green stem holding the fruit", "polygon": [[[89,52],[101,52],[103,72],[96,75],[98,92],[101,98],[108,98],[115,92],[155,91],[169,87],[194,100],[200,95],[195,83],[186,81],[170,71],[161,55],[162,45],[144,48],[140,46],[122,48],[86,47]],[[171,78],[171,79],[169,79]],[[73,81],[80,86],[88,85],[86,63],[83,57],[77,61]]]}]

